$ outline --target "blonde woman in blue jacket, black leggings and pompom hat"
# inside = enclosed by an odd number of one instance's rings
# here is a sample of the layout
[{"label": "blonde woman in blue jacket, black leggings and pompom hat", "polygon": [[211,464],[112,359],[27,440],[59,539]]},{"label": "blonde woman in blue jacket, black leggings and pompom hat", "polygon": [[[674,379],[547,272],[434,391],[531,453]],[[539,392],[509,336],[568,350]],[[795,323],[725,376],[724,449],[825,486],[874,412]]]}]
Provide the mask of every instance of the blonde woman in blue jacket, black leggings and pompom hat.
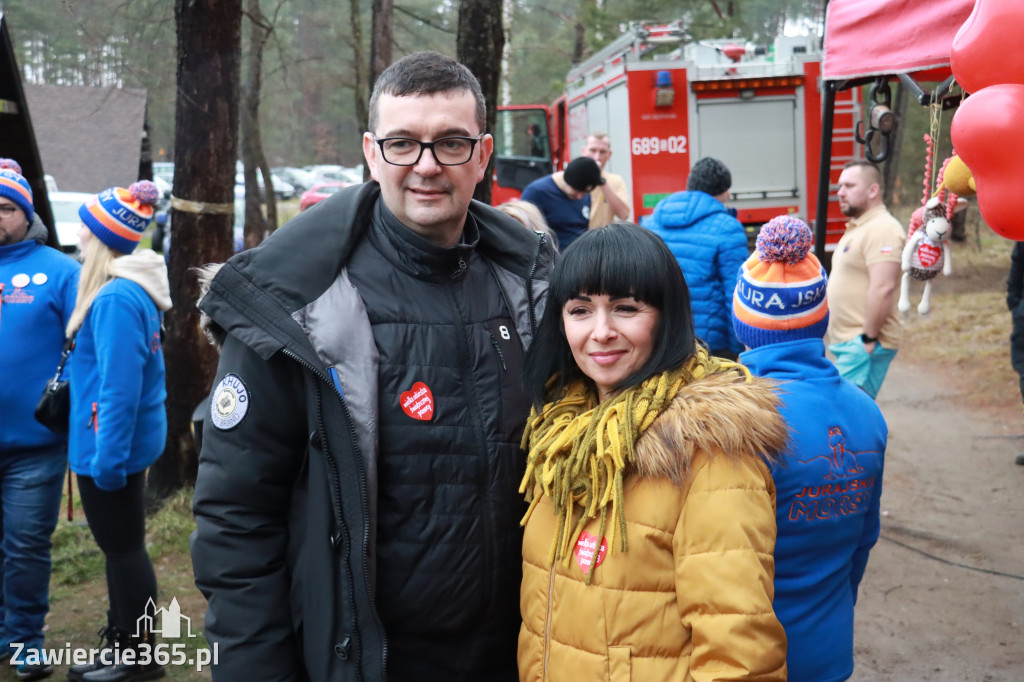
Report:
[{"label": "blonde woman in blue jacket, black leggings and pompom hat", "polygon": [[[75,335],[69,458],[106,559],[108,646],[147,651],[151,658],[153,634],[141,616],[150,600],[156,604],[157,578],[145,551],[142,496],[145,470],[167,440],[161,327],[171,298],[164,259],[133,251],[158,197],[156,185],[142,180],[105,189],[79,209],[84,264],[67,330]],[[154,663],[105,656],[72,666],[68,677],[123,682],[162,674]]]}]

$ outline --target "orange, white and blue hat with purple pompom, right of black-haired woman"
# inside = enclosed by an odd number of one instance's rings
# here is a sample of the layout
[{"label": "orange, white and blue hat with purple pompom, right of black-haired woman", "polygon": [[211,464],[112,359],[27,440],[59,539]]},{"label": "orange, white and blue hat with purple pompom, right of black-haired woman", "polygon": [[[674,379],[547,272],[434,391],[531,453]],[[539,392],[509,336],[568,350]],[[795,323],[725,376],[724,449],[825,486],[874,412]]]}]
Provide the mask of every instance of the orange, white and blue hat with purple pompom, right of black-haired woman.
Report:
[{"label": "orange, white and blue hat with purple pompom, right of black-haired woman", "polygon": [[793,216],[772,218],[761,228],[732,297],[732,326],[749,348],[824,337],[828,278],[810,253],[811,242],[811,228]]}]

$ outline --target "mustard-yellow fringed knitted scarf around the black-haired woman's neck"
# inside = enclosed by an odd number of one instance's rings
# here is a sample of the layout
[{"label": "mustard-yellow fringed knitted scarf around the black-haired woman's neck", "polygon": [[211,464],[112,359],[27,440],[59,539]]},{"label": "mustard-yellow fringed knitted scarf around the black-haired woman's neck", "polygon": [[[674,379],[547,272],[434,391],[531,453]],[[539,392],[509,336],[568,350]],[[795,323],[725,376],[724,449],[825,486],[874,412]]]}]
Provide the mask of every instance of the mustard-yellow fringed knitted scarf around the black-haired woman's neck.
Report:
[{"label": "mustard-yellow fringed knitted scarf around the black-haired woman's neck", "polygon": [[[736,363],[708,354],[702,347],[682,367],[655,375],[618,395],[598,403],[597,395],[583,381],[569,386],[560,399],[537,409],[526,421],[522,447],[527,451],[526,473],[519,484],[530,514],[547,495],[559,516],[559,528],[551,542],[548,560],[562,559],[568,565],[584,525],[601,519],[598,538],[608,524],[608,507],[614,519],[609,550],[617,532],[620,550],[628,549],[623,510],[623,477],[634,460],[637,439],[672,402],[679,390],[701,377],[738,370]],[[587,571],[587,584],[596,562]]]}]

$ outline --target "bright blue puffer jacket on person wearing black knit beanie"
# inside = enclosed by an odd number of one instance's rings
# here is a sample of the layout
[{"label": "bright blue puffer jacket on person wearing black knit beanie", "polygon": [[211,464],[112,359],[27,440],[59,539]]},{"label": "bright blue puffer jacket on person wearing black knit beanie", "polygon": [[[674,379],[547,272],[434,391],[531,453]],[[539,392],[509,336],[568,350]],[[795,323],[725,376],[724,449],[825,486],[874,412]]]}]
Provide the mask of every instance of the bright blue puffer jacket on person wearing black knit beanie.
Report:
[{"label": "bright blue puffer jacket on person wearing black knit beanie", "polygon": [[741,351],[732,330],[732,292],[750,255],[743,226],[722,202],[702,191],[666,197],[640,224],[669,245],[683,268],[697,338],[712,350]]}]

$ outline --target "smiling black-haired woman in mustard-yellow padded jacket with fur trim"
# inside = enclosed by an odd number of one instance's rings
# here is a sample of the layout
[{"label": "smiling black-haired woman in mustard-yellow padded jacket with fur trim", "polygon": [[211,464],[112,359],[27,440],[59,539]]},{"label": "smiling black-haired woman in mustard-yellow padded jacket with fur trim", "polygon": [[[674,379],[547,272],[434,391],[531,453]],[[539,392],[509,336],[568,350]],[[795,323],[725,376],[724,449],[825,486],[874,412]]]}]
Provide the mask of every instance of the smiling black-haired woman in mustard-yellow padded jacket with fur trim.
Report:
[{"label": "smiling black-haired woman in mustard-yellow padded jacket with fur trim", "polygon": [[525,369],[520,680],[785,680],[771,384],[696,342],[637,225],[558,262]]}]

